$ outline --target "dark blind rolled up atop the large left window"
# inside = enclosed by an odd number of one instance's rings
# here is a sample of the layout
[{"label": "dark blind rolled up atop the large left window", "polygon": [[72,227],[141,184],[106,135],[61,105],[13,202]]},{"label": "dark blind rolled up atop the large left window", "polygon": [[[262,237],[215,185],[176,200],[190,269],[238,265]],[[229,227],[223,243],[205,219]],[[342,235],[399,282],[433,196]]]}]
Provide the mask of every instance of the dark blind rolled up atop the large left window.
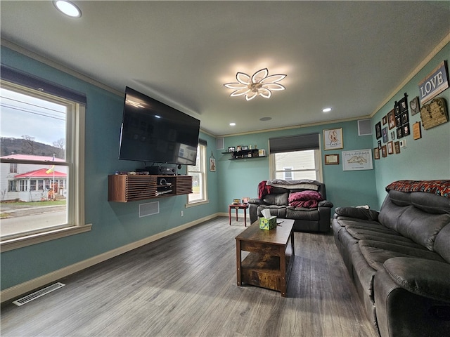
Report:
[{"label": "dark blind rolled up atop the large left window", "polygon": [[1,79],[86,105],[86,95],[1,65]]}]

